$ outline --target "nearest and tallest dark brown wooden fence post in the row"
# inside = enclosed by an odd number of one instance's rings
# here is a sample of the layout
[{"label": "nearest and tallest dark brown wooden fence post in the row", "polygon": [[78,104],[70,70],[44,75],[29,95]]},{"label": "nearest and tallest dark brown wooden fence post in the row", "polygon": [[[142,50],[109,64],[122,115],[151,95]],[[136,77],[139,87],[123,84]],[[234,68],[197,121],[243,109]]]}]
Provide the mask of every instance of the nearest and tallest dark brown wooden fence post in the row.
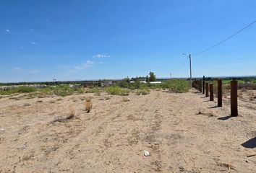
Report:
[{"label": "nearest and tallest dark brown wooden fence post in the row", "polygon": [[231,87],[231,93],[230,93],[230,99],[231,99],[231,117],[238,116],[238,109],[237,109],[237,81],[232,80],[230,82]]}]

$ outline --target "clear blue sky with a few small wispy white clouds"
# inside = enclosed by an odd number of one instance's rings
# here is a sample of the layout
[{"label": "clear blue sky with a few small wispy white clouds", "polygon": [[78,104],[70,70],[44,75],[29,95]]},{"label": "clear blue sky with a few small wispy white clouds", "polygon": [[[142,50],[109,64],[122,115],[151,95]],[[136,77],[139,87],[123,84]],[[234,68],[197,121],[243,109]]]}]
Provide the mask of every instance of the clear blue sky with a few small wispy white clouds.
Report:
[{"label": "clear blue sky with a few small wispy white clouds", "polygon": [[[0,81],[189,76],[255,21],[256,1],[0,1]],[[193,76],[256,75],[256,23],[192,56]]]}]

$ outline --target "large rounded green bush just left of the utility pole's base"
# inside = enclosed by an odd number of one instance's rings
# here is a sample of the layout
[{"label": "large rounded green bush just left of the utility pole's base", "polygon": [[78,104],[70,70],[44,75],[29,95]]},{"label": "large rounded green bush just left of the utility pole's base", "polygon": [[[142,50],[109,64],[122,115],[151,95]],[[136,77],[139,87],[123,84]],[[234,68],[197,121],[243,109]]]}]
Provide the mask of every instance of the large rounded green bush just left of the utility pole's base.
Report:
[{"label": "large rounded green bush just left of the utility pole's base", "polygon": [[189,92],[190,84],[189,81],[183,79],[171,79],[168,81],[163,81],[161,84],[163,89],[168,89],[170,92]]}]

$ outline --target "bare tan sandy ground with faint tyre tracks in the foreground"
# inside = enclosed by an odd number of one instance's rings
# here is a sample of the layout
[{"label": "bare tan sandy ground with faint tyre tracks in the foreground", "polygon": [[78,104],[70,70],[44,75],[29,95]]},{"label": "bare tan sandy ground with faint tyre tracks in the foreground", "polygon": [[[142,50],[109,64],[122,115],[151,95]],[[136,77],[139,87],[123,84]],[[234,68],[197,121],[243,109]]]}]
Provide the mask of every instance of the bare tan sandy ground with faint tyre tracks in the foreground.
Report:
[{"label": "bare tan sandy ground with faint tyre tracks in the foreground", "polygon": [[195,92],[60,98],[0,99],[0,172],[256,172],[253,100],[229,117]]}]

